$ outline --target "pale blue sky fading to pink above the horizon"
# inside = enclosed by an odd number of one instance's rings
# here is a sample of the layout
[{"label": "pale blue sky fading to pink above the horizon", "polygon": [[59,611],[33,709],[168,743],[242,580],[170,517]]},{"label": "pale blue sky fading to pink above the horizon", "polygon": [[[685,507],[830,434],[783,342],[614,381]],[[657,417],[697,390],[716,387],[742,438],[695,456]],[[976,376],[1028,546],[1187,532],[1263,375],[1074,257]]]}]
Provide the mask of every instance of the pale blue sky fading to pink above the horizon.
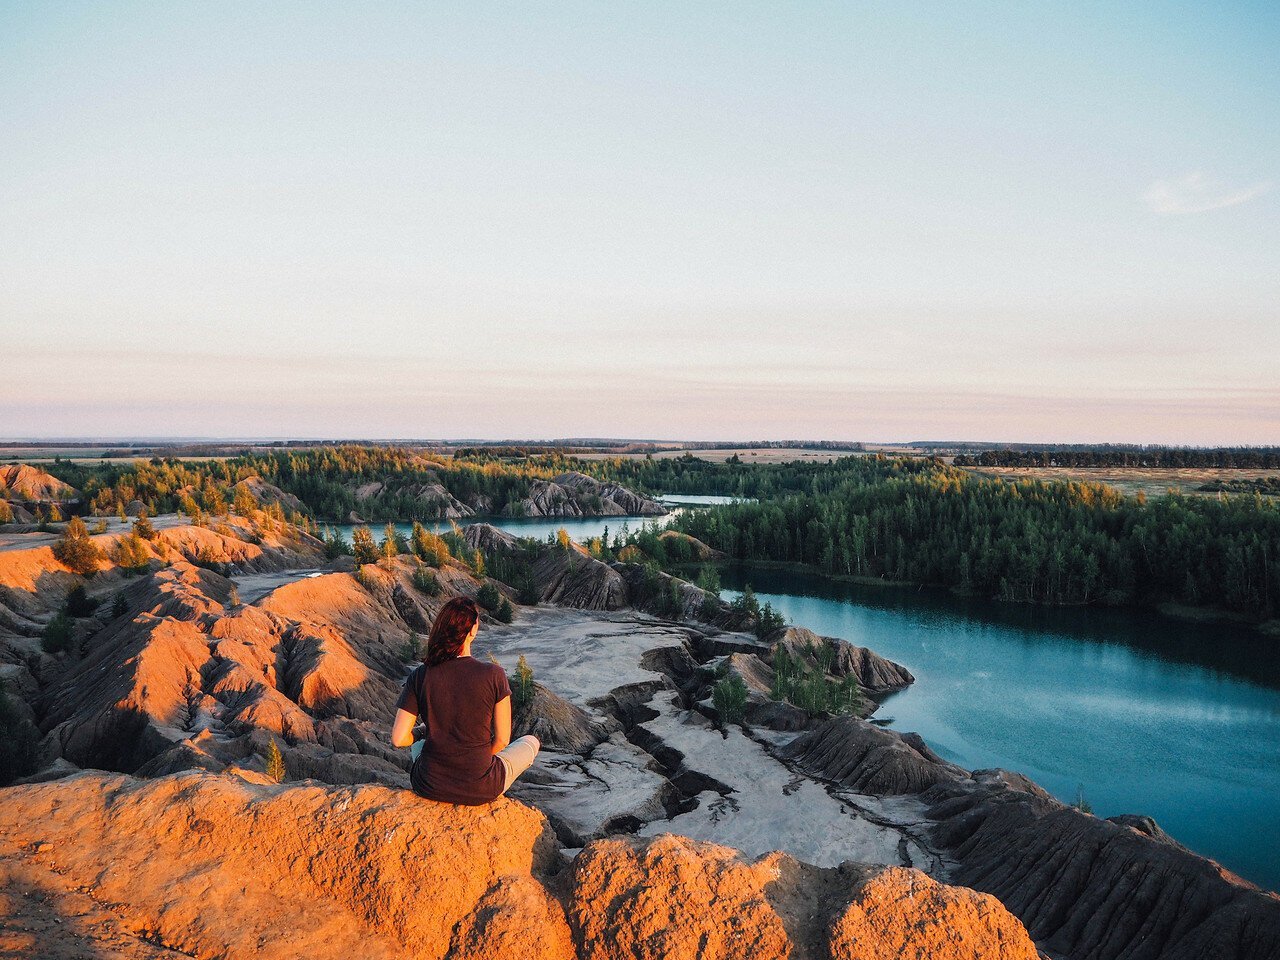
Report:
[{"label": "pale blue sky fading to pink above the horizon", "polygon": [[0,433],[1280,443],[1277,51],[1261,3],[0,3]]}]

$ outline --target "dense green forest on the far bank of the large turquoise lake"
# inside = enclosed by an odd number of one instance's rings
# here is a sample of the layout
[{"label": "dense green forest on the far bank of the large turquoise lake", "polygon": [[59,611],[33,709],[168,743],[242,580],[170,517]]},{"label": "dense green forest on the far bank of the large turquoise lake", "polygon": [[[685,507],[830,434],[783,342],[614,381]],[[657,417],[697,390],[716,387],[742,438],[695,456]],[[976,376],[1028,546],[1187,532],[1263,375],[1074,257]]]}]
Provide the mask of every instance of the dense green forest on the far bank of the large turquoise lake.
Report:
[{"label": "dense green forest on the far bank of the large turquoise lake", "polygon": [[[745,561],[940,584],[1050,604],[1179,602],[1265,618],[1280,600],[1280,504],[1148,502],[1102,484],[1009,483],[923,461],[863,458],[828,490],[682,515]],[[818,484],[814,484],[818,486]]]}]

